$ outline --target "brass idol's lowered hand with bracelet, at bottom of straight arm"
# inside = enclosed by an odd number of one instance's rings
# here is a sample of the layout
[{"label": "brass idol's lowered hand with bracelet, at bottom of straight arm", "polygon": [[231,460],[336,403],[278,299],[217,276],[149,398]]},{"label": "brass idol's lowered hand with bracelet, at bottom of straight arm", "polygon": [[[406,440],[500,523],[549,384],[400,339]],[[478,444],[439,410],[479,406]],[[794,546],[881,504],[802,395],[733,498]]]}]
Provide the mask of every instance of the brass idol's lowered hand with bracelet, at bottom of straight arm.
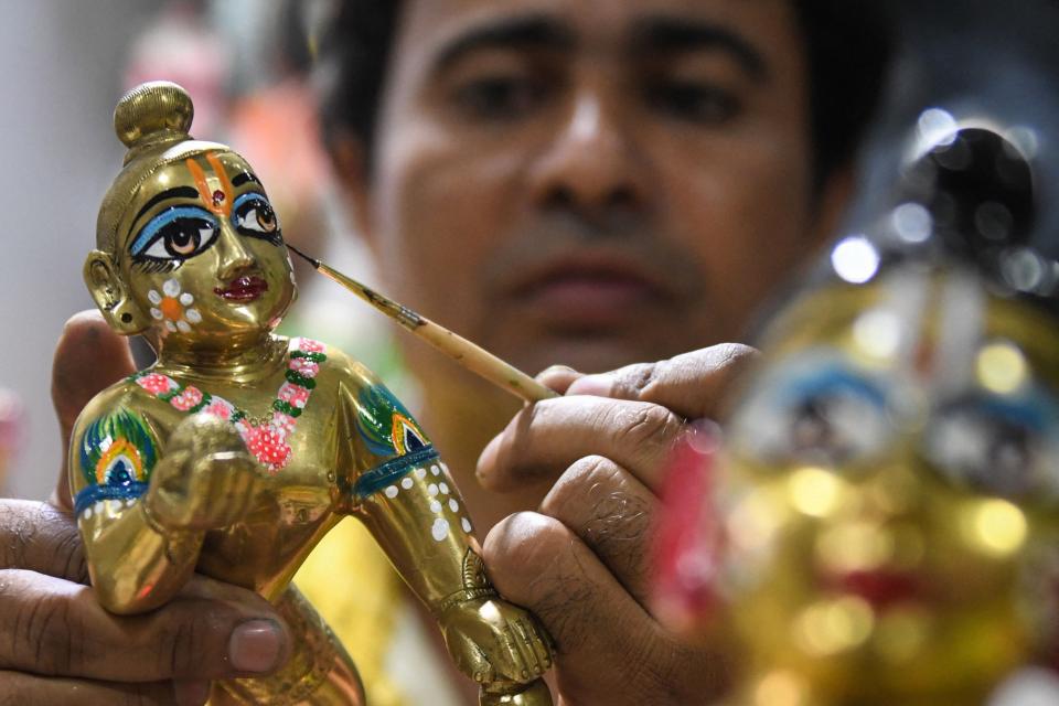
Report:
[{"label": "brass idol's lowered hand with bracelet, at bottom of straight arm", "polygon": [[479,684],[521,684],[552,666],[552,650],[537,621],[499,597],[457,603],[439,622],[452,661]]}]

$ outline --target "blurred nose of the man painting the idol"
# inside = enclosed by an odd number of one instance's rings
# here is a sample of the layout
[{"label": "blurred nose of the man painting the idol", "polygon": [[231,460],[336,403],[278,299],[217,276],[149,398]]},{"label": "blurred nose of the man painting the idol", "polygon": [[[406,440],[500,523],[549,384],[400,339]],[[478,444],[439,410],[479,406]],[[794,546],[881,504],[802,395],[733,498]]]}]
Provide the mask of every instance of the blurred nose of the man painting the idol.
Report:
[{"label": "blurred nose of the man painting the idol", "polygon": [[533,167],[531,186],[538,204],[589,216],[643,205],[648,165],[620,114],[618,100],[599,94],[575,98]]}]

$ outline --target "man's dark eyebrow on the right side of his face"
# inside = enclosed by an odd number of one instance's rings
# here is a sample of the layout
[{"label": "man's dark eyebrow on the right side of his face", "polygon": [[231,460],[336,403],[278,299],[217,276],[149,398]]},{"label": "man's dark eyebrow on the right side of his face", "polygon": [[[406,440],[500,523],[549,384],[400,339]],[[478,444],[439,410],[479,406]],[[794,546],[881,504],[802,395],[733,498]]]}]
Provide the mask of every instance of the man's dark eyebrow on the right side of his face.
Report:
[{"label": "man's dark eyebrow on the right side of his face", "polygon": [[632,31],[634,52],[691,52],[715,50],[730,54],[752,78],[764,81],[769,65],[761,51],[738,32],[687,18],[650,17],[639,20]]}]

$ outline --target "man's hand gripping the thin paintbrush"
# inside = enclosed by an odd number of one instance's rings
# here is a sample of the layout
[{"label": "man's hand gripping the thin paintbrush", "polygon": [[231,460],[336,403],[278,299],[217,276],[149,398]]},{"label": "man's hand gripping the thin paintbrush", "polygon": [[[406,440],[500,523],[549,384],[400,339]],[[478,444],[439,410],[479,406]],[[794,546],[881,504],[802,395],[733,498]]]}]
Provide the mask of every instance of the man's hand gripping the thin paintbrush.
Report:
[{"label": "man's hand gripping the thin paintbrush", "polygon": [[493,527],[483,558],[555,640],[557,700],[702,704],[724,691],[717,645],[682,642],[651,613],[650,528],[685,420],[716,416],[755,357],[721,345],[607,375],[546,371],[538,379],[566,396],[522,410],[482,452],[491,490],[553,483],[538,512]]}]

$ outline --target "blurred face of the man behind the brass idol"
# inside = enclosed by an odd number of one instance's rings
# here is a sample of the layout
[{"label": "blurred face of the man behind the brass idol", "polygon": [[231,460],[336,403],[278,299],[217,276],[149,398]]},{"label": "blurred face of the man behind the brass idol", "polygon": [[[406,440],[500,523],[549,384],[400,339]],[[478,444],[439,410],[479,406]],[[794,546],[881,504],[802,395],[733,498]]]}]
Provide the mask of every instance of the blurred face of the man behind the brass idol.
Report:
[{"label": "blurred face of the man behind the brass idol", "polygon": [[409,0],[391,61],[385,286],[530,372],[736,340],[811,249],[785,0]]}]

